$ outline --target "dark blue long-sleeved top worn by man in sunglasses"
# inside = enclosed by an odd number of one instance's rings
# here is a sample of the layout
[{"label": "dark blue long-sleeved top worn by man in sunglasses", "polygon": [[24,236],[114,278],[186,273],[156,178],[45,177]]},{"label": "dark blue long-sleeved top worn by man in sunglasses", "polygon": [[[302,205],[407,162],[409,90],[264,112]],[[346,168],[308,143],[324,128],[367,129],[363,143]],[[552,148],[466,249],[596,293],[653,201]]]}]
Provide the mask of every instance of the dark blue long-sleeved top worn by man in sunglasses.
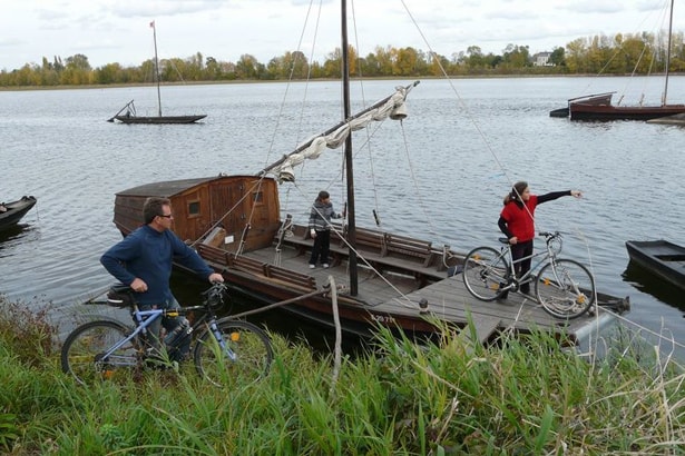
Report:
[{"label": "dark blue long-sleeved top worn by man in sunglasses", "polygon": [[159,232],[141,226],[109,248],[100,262],[121,284],[130,285],[136,277],[145,280],[147,291],[136,294],[143,305],[165,305],[174,297],[169,288],[172,261],[195,271],[203,279],[214,272],[209,266],[170,230]]}]

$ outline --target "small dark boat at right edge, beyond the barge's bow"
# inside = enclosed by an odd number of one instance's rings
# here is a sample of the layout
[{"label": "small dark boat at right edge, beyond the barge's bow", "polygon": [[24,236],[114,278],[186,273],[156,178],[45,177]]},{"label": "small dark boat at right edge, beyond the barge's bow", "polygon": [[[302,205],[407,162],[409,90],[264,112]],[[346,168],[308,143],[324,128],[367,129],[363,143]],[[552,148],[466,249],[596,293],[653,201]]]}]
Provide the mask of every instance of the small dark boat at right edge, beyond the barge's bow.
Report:
[{"label": "small dark boat at right edge, beyond the barge's bow", "polygon": [[685,289],[685,247],[667,240],[628,240],[630,261],[654,276]]}]

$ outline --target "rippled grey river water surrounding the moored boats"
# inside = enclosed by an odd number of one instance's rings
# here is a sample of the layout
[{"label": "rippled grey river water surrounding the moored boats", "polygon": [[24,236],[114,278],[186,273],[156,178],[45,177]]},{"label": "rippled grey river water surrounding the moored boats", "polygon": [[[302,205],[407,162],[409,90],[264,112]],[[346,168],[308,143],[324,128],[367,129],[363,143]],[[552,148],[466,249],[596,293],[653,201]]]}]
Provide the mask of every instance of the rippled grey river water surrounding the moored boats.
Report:
[{"label": "rippled grey river water surrounding the moored boats", "polygon": [[[353,111],[402,81],[353,86]],[[583,78],[424,80],[409,117],[355,135],[358,225],[413,234],[467,251],[496,245],[501,198],[511,182],[532,192],[580,189],[584,198],[540,206],[537,227],[565,232],[564,256],[591,267],[598,289],[629,296],[627,318],[685,344],[682,293],[627,270],[628,239],[683,232],[685,129],[644,122],[577,123],[549,111],[584,93]],[[594,92],[618,90],[606,78]],[[685,78],[671,93],[685,92]],[[156,113],[150,87],[0,91],[0,201],[33,195],[19,229],[0,235],[0,293],[59,309],[111,278],[99,265],[120,235],[115,192],[156,180],[255,174],[341,118],[335,82],[164,87],[168,115],[206,113],[199,125],[107,122],[130,99]],[[302,100],[305,100],[304,106]],[[302,221],[322,188],[342,209],[340,151],[304,166],[281,188],[282,209]],[[202,286],[175,276],[179,294]],[[200,287],[200,288],[198,288]]]}]

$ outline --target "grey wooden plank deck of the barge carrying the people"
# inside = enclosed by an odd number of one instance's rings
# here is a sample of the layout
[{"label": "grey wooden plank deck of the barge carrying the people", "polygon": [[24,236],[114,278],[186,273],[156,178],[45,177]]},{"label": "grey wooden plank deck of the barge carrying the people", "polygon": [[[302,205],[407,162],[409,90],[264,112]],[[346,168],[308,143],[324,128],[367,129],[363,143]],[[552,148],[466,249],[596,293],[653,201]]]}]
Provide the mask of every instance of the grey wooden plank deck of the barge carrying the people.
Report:
[{"label": "grey wooden plank deck of the barge carrying the people", "polygon": [[[309,275],[319,288],[327,284],[330,278],[333,278],[337,286],[349,284],[346,258],[342,261],[333,261],[326,269],[320,266],[310,269],[309,249],[297,249],[297,244],[303,242],[299,240],[283,246],[278,261],[276,261],[276,254],[273,249],[261,249],[244,255],[262,264],[277,264],[285,269]],[[334,246],[332,250],[340,251]],[[373,260],[373,255],[369,258],[370,262],[378,266]],[[392,261],[401,262],[401,260],[389,258],[388,265]],[[419,287],[414,278],[399,277],[392,272],[392,268],[389,271],[379,271],[365,266],[361,258],[359,265],[362,267],[359,272],[356,299],[362,303],[361,306],[368,310],[371,319],[383,319],[381,323],[385,325],[392,324],[391,320],[400,316],[411,318],[430,316],[458,327],[466,327],[470,319],[477,330],[478,339],[483,343],[491,340],[498,333],[506,329],[519,333],[529,333],[534,329],[565,331],[571,340],[579,341],[588,334],[610,325],[615,319],[614,313],[599,306],[594,315],[586,314],[573,320],[561,320],[547,314],[535,299],[518,293],[510,293],[502,301],[482,301],[467,290],[461,274],[448,277],[447,270],[438,271],[433,268],[433,276],[439,275],[441,278],[424,287]],[[404,265],[398,266],[403,267]],[[384,280],[388,275],[393,275],[392,285]],[[623,306],[622,310],[627,310],[629,306],[628,298],[620,299],[604,294],[600,297],[605,301]]]}]

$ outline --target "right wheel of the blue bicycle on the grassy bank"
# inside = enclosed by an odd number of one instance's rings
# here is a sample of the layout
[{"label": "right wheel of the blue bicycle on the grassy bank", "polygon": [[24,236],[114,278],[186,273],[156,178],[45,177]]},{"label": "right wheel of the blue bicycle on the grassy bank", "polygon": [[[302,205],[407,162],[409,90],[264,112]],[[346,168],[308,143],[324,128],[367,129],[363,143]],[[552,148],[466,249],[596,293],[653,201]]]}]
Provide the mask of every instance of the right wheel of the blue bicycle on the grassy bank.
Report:
[{"label": "right wheel of the blue bicycle on the grassy bank", "polygon": [[200,376],[217,386],[244,385],[266,375],[273,359],[268,336],[247,321],[219,320],[224,347],[211,330],[195,347],[195,366]]}]

